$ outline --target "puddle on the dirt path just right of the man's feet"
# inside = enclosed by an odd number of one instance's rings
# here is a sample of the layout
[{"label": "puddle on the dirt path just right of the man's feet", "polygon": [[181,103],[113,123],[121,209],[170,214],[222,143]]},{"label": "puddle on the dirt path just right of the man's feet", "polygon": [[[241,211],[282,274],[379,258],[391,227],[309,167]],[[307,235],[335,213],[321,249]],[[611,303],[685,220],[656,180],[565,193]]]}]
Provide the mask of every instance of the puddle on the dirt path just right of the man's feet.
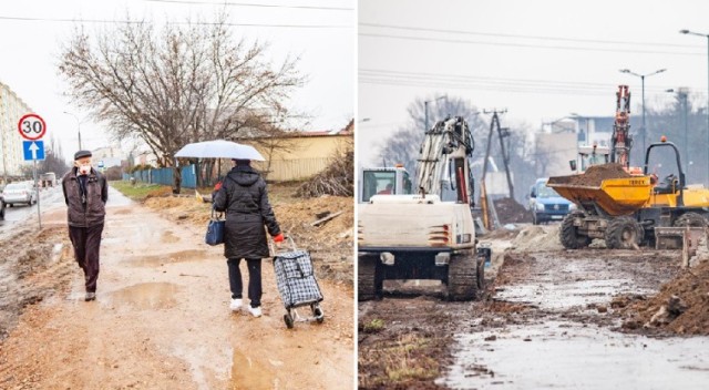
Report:
[{"label": "puddle on the dirt path just right of the man's feet", "polygon": [[143,283],[112,292],[110,302],[127,304],[138,309],[166,309],[175,306],[178,291],[179,287],[172,283]]}]

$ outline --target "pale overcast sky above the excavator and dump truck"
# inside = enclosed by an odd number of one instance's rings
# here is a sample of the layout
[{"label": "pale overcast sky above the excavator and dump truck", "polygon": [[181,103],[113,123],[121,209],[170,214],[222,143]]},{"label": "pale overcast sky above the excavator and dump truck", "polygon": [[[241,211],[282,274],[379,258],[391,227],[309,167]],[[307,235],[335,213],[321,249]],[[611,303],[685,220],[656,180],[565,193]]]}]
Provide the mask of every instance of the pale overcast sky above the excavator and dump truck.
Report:
[{"label": "pale overcast sky above the excavator and dump truck", "polygon": [[358,13],[360,164],[417,96],[506,107],[503,126],[538,129],[569,113],[613,115],[621,83],[637,109],[640,79],[618,70],[667,69],[645,79],[646,106],[678,86],[707,105],[707,38],[679,33],[709,33],[707,1],[360,0]]}]

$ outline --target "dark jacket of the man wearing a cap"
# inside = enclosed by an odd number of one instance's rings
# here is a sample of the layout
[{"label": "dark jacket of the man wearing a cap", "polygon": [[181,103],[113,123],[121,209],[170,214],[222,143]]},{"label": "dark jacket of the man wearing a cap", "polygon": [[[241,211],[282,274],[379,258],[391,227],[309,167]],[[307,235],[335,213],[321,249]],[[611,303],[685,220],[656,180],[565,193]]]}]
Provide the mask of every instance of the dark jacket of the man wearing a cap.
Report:
[{"label": "dark jacket of the man wearing a cap", "polygon": [[109,199],[109,184],[105,176],[91,168],[86,177],[86,202],[82,202],[76,168],[72,168],[62,178],[62,191],[66,203],[69,226],[92,227],[103,224]]}]

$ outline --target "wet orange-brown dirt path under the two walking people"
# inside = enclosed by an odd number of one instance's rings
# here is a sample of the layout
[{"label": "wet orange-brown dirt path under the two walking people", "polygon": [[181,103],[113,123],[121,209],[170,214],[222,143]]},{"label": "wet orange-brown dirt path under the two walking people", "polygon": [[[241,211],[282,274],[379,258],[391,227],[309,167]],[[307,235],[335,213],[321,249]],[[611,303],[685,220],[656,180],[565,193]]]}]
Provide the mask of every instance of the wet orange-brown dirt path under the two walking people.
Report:
[{"label": "wet orange-brown dirt path under the two walking people", "polygon": [[[45,220],[61,226],[64,212]],[[202,229],[135,205],[110,203],[106,220],[97,300],[82,300],[69,264],[65,294],[30,306],[0,345],[0,388],[352,387],[349,286],[322,280],[325,322],[287,330],[270,261],[264,317],[232,314],[223,248]]]}]

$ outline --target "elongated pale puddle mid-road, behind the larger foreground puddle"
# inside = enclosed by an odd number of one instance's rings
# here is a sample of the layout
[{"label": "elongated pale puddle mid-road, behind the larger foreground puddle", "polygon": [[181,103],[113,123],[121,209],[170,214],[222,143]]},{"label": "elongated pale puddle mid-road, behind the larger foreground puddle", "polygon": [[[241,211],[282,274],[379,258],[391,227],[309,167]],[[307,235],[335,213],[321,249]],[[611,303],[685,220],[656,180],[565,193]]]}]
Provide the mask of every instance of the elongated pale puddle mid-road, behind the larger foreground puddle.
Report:
[{"label": "elongated pale puddle mid-road, behind the larger foreground puddle", "polygon": [[537,283],[505,286],[495,292],[495,299],[525,304],[547,310],[585,307],[588,304],[609,302],[618,294],[654,294],[635,286],[630,279],[579,280]]}]

